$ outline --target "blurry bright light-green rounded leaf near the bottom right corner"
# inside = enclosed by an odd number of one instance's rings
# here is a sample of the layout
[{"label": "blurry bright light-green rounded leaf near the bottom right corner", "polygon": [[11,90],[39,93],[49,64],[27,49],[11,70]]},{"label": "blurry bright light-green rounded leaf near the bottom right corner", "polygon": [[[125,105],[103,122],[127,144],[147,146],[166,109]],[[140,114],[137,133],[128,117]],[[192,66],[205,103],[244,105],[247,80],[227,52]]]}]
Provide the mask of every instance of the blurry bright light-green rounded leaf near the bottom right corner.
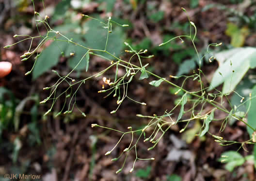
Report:
[{"label": "blurry bright light-green rounded leaf near the bottom right corner", "polygon": [[240,153],[237,153],[235,151],[228,151],[221,154],[222,157],[218,159],[218,161],[224,160],[226,163],[225,169],[232,172],[235,167],[241,166],[245,159],[240,155]]}]

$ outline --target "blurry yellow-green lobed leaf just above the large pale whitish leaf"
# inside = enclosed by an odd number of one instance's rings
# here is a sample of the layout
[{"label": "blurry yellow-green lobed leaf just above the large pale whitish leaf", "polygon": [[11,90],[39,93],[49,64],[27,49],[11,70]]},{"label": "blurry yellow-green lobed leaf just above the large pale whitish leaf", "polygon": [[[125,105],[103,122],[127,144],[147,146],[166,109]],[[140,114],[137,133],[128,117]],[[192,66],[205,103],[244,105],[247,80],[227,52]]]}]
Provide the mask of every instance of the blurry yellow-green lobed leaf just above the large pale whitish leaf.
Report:
[{"label": "blurry yellow-green lobed leaf just above the large pale whitish leaf", "polygon": [[244,44],[245,38],[249,35],[249,29],[243,27],[239,29],[236,24],[228,23],[225,31],[226,35],[231,37],[231,45],[241,47]]}]

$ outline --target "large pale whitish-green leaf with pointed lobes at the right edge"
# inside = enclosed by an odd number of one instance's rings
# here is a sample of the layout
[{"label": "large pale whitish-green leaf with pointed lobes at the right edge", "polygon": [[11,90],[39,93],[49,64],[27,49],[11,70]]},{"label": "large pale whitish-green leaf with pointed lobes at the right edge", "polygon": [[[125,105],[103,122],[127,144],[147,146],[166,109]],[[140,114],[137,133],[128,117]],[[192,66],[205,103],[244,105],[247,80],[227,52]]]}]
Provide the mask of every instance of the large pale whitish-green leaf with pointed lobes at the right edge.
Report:
[{"label": "large pale whitish-green leaf with pointed lobes at the right edge", "polygon": [[[212,90],[216,86],[224,83],[223,93],[229,93],[236,85],[241,81],[244,74],[249,70],[250,65],[254,65],[256,48],[246,47],[239,49],[237,53],[230,56],[219,68],[215,71],[210,88]],[[231,50],[232,52],[234,50]],[[224,55],[227,55],[227,51],[224,52]],[[216,57],[222,56],[222,52],[218,53]],[[232,62],[232,66],[230,65]],[[253,63],[252,63],[253,62]],[[233,71],[234,70],[234,71]],[[220,73],[221,74],[220,74]]]}]

